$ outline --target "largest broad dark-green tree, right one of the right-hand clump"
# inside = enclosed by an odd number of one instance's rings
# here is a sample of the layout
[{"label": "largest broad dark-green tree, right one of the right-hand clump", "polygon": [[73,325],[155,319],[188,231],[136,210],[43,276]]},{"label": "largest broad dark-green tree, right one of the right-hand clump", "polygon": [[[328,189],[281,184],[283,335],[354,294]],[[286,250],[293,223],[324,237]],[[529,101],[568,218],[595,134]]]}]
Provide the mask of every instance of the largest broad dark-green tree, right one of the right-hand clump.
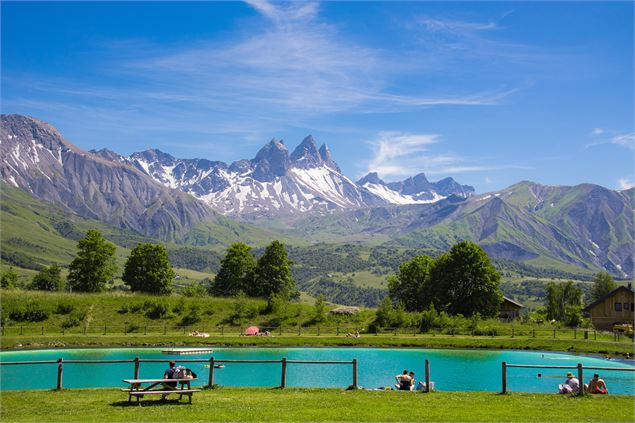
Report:
[{"label": "largest broad dark-green tree, right one of the right-hand clump", "polygon": [[434,262],[430,274],[433,303],[450,314],[498,315],[503,294],[500,274],[477,244],[462,241]]}]

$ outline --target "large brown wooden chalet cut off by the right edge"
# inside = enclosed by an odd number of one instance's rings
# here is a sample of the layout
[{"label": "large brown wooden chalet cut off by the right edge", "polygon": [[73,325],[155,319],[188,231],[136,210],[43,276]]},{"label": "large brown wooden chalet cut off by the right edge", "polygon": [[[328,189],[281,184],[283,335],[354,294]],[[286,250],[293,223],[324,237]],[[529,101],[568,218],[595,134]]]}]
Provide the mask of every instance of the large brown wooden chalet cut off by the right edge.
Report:
[{"label": "large brown wooden chalet cut off by the right edge", "polygon": [[631,284],[620,286],[582,310],[591,318],[596,329],[612,330],[615,323],[630,323],[635,320],[633,303],[635,293]]}]

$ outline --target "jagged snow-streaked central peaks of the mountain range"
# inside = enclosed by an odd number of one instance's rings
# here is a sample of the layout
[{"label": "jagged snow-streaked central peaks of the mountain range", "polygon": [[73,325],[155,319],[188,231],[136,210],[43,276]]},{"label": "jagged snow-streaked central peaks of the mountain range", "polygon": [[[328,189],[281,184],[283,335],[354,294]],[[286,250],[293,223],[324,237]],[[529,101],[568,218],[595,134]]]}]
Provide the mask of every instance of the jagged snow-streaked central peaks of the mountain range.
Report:
[{"label": "jagged snow-streaked central peaks of the mountain range", "polygon": [[127,160],[157,182],[190,193],[223,214],[240,217],[429,203],[449,195],[435,192],[423,174],[389,184],[369,174],[355,183],[342,174],[328,146],[318,149],[311,135],[291,154],[283,141],[274,138],[253,159],[229,166],[206,159],[177,159],[155,149],[134,153]]}]

